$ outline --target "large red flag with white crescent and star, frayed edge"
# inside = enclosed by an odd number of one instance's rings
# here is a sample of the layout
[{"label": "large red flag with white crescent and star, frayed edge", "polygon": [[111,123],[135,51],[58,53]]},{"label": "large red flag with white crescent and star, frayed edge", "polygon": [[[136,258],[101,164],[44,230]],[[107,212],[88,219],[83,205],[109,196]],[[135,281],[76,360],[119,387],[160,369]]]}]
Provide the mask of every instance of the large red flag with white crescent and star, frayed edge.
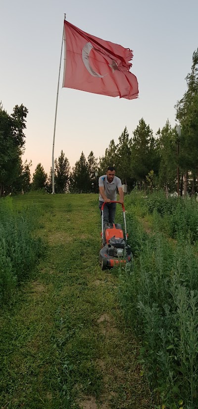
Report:
[{"label": "large red flag with white crescent and star, frayed edge", "polygon": [[130,73],[132,50],[85,33],[64,21],[63,87],[134,99],[138,82]]}]

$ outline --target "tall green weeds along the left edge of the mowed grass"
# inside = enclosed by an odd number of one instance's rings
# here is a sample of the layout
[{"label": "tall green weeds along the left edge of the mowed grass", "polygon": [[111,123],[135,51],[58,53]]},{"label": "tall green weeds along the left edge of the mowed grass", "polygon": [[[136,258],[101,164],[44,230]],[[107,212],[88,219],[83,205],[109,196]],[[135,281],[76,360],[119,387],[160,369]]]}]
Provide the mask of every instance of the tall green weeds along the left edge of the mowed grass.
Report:
[{"label": "tall green weeds along the left edge of the mowed grass", "polygon": [[43,251],[32,234],[39,217],[36,207],[17,212],[10,197],[0,200],[0,303],[35,267]]}]

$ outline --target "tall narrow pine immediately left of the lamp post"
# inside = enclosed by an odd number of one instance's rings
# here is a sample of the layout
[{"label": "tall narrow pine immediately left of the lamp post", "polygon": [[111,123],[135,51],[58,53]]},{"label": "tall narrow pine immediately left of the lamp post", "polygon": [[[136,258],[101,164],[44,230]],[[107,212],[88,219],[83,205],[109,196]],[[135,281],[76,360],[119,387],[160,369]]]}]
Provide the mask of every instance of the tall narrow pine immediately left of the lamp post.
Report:
[{"label": "tall narrow pine immediately left of the lamp post", "polygon": [[165,189],[168,197],[169,191],[175,190],[177,174],[175,129],[171,127],[169,120],[166,121],[161,131],[158,130],[157,135],[160,155],[159,185]]}]

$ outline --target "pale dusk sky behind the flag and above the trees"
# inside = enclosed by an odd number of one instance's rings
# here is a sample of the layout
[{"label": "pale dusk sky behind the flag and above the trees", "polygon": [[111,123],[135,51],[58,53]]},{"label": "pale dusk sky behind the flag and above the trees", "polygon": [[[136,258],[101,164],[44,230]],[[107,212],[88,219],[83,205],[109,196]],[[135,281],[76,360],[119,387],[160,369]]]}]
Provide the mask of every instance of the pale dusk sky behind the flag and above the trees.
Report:
[{"label": "pale dusk sky behind the flag and above the trees", "polygon": [[49,174],[64,13],[83,31],[134,52],[131,71],[139,99],[112,98],[62,88],[63,56],[54,157],[63,150],[74,166],[83,151],[99,158],[125,125],[130,137],[143,117],[155,134],[186,90],[198,47],[198,0],[0,0],[0,100],[12,113],[29,111],[25,154]]}]

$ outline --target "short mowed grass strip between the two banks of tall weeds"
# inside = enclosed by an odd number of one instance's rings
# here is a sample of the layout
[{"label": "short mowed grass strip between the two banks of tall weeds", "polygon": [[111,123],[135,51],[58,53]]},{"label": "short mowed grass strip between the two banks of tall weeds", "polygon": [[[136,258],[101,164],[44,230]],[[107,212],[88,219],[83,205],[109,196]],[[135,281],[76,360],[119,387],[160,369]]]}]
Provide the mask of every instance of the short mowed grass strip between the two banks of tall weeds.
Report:
[{"label": "short mowed grass strip between the two banks of tall weeds", "polygon": [[24,195],[48,252],[0,317],[1,408],[150,408],[138,345],[99,266],[98,195]]}]

